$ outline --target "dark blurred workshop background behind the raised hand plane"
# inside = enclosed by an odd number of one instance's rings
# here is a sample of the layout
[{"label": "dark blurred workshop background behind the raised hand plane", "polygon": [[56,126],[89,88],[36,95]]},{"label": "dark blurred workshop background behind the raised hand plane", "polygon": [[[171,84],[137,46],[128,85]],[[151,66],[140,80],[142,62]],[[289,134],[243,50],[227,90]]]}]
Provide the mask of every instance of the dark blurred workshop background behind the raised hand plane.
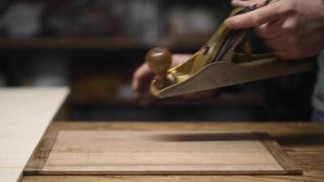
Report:
[{"label": "dark blurred workshop background behind the raised hand plane", "polygon": [[194,53],[230,11],[221,0],[1,0],[0,86],[70,86],[66,120],[309,120],[315,72],[137,100],[131,77],[150,47]]}]

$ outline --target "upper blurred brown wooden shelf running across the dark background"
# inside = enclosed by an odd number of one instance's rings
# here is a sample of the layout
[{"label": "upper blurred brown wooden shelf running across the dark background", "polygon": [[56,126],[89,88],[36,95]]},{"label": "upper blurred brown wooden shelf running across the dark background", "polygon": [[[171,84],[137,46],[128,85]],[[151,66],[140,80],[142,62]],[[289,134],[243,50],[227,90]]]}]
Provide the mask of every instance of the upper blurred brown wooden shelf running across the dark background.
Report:
[{"label": "upper blurred brown wooden shelf running across the dark background", "polygon": [[208,40],[207,35],[177,37],[167,36],[161,41],[144,44],[136,38],[129,37],[31,37],[8,38],[0,36],[0,48],[5,49],[99,49],[99,50],[137,50],[147,49],[152,46],[166,46],[172,50],[197,50]]}]

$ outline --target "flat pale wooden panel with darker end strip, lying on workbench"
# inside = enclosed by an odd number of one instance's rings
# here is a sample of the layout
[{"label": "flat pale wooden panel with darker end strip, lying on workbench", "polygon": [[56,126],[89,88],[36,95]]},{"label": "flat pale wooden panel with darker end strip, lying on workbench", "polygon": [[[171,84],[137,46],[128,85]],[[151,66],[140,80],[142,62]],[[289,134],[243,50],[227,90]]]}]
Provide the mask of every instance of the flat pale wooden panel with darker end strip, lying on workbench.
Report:
[{"label": "flat pale wooden panel with darker end strip, lying on workbench", "polygon": [[61,131],[43,175],[283,175],[299,167],[265,135]]}]

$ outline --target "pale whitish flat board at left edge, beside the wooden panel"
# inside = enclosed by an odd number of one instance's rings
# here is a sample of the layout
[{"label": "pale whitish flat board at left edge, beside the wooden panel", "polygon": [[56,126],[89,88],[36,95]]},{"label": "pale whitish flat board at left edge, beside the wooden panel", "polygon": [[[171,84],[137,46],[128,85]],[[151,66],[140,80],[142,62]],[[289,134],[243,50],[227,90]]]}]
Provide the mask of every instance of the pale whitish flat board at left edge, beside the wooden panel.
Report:
[{"label": "pale whitish flat board at left edge, beside the wooden panel", "polygon": [[20,179],[67,94],[64,87],[0,88],[0,181]]}]

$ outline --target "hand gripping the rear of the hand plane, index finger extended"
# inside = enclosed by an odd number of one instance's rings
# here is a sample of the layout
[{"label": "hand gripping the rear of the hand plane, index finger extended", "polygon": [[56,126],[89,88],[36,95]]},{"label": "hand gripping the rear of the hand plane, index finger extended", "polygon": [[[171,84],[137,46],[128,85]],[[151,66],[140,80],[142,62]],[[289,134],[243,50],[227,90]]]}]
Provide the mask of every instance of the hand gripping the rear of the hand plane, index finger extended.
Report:
[{"label": "hand gripping the rear of the hand plane, index finger extended", "polygon": [[[234,0],[234,6],[261,5],[264,0]],[[301,59],[324,48],[324,5],[321,0],[280,0],[244,15],[229,17],[231,29],[254,27],[256,35],[281,59]]]}]

